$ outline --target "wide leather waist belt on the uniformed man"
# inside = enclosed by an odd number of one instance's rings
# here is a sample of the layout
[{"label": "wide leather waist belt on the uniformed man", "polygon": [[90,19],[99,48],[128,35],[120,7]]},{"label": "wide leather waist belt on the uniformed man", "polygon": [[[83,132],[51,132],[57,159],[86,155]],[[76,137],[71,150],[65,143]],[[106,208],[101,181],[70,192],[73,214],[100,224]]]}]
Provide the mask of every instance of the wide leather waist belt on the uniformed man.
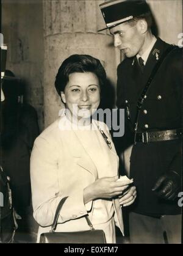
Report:
[{"label": "wide leather waist belt on the uniformed man", "polygon": [[136,133],[135,142],[156,142],[156,141],[170,141],[173,139],[180,139],[182,129],[174,129],[167,131],[146,131],[145,133]]}]

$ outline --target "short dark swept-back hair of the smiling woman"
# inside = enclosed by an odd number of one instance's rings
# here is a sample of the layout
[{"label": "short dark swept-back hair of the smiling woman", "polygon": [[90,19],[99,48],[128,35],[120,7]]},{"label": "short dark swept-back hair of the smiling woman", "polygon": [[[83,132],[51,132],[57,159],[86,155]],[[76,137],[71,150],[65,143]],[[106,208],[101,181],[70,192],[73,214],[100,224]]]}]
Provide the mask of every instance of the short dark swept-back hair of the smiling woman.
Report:
[{"label": "short dark swept-back hair of the smiling woman", "polygon": [[60,92],[64,92],[65,90],[65,86],[69,81],[69,75],[75,72],[94,73],[99,80],[99,86],[102,92],[102,87],[106,83],[106,71],[102,67],[101,62],[90,55],[73,54],[62,62],[58,70],[55,87],[59,96]]}]

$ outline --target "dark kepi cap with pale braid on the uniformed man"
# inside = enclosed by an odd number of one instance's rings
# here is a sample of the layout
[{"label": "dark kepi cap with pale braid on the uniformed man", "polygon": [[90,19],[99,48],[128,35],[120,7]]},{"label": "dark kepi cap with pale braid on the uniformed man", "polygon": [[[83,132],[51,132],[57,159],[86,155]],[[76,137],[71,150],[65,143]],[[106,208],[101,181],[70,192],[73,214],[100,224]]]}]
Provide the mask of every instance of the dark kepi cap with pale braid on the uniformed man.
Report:
[{"label": "dark kepi cap with pale braid on the uniformed man", "polygon": [[107,27],[99,29],[98,32],[150,12],[149,5],[145,0],[111,0],[100,4],[99,7]]}]

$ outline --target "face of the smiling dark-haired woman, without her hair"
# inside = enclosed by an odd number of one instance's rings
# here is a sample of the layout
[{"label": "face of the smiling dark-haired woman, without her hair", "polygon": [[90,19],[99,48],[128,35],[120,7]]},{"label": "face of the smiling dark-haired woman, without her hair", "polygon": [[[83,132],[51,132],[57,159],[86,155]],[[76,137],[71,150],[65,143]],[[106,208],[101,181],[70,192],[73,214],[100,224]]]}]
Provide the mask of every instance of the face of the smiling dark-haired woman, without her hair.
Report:
[{"label": "face of the smiling dark-haired woman, without her hair", "polygon": [[71,73],[64,92],[61,92],[61,98],[66,108],[70,110],[72,118],[76,117],[78,120],[82,117],[89,118],[100,102],[97,76],[91,72]]}]

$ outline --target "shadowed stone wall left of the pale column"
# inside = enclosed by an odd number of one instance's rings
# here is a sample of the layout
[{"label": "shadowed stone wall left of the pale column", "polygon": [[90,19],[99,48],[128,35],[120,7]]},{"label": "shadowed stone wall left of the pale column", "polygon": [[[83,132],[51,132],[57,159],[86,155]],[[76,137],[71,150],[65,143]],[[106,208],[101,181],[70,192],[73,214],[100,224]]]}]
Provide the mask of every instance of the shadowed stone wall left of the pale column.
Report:
[{"label": "shadowed stone wall left of the pale column", "polygon": [[41,0],[3,0],[2,34],[7,43],[6,68],[26,86],[26,101],[37,110],[40,129],[43,109],[43,5]]}]

